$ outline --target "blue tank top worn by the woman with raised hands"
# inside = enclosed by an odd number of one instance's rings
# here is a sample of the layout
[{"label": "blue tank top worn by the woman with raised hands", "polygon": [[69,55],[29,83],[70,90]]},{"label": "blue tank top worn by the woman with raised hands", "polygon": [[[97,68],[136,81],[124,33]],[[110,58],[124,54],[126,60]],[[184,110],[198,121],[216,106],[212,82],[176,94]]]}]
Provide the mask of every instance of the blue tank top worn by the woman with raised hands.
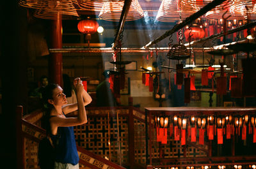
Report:
[{"label": "blue tank top worn by the woman with raised hands", "polygon": [[73,127],[58,127],[58,135],[51,135],[52,142],[56,147],[56,162],[77,165],[76,140]]}]

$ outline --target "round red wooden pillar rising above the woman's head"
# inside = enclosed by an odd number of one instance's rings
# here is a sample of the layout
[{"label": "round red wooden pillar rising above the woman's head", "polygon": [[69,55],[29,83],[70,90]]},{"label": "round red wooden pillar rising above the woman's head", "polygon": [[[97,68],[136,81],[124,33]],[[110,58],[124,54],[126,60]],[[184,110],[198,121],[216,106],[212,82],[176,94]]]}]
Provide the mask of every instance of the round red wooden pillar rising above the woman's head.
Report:
[{"label": "round red wooden pillar rising above the woman's head", "polygon": [[[61,14],[52,22],[51,48],[62,48],[62,20]],[[52,53],[49,56],[49,79],[51,83],[63,86],[62,82],[62,53]]]}]

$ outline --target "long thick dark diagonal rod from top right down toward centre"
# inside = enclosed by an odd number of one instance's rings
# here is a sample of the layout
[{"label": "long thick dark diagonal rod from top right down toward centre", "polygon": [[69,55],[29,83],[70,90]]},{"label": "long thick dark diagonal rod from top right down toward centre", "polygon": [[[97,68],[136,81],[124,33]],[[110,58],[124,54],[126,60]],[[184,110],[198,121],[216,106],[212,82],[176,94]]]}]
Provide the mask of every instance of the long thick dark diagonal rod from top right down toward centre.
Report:
[{"label": "long thick dark diagonal rod from top right down toward centre", "polygon": [[167,38],[171,34],[173,34],[176,31],[178,31],[179,29],[182,29],[182,27],[191,24],[191,22],[193,22],[197,18],[199,18],[202,15],[204,15],[205,13],[207,13],[207,11],[212,10],[212,8],[215,8],[216,6],[218,6],[219,4],[223,3],[224,1],[225,0],[214,0],[211,3],[205,5],[204,8],[201,8],[196,13],[190,15],[188,18],[183,20],[180,24],[176,24],[171,30],[166,31],[162,36],[159,36],[158,38],[156,38],[156,40],[150,41],[147,45],[144,46],[144,48],[152,47],[152,45],[158,43],[159,41],[163,40],[164,38]]}]

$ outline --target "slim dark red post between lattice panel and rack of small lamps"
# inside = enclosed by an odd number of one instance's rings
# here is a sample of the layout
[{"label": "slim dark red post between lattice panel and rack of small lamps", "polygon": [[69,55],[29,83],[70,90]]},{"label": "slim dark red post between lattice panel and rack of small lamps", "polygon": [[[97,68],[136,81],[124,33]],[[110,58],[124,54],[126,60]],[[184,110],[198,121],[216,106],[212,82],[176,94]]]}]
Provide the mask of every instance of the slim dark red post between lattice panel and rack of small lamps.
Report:
[{"label": "slim dark red post between lattice panel and rack of small lamps", "polygon": [[129,137],[129,164],[130,168],[134,168],[134,117],[133,117],[133,101],[132,97],[129,101],[129,119],[128,119],[128,137]]}]

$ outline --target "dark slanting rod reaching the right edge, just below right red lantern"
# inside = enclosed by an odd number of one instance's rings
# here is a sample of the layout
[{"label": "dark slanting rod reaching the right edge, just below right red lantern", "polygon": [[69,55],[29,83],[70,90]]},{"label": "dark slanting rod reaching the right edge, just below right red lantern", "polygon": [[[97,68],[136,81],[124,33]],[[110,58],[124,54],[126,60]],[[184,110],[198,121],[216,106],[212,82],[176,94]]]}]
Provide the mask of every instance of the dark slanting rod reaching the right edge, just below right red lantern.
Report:
[{"label": "dark slanting rod reaching the right edge, just below right red lantern", "polygon": [[[202,39],[196,40],[196,41],[191,41],[190,45],[193,46],[193,45],[196,45],[198,43],[202,43],[204,41],[211,40],[213,38],[220,38],[221,36],[224,36],[224,35],[227,35],[227,34],[236,33],[236,32],[242,31],[244,29],[247,29],[247,28],[250,28],[250,27],[253,27],[253,26],[256,26],[256,21],[250,22],[248,24],[244,24],[243,26],[239,26],[239,27],[236,27],[234,29],[230,29],[229,31],[226,32],[226,34],[224,34],[223,31],[221,31],[221,33],[212,34],[211,36],[208,36],[206,38],[202,38]],[[189,43],[185,43],[184,45],[188,46]]]}]

